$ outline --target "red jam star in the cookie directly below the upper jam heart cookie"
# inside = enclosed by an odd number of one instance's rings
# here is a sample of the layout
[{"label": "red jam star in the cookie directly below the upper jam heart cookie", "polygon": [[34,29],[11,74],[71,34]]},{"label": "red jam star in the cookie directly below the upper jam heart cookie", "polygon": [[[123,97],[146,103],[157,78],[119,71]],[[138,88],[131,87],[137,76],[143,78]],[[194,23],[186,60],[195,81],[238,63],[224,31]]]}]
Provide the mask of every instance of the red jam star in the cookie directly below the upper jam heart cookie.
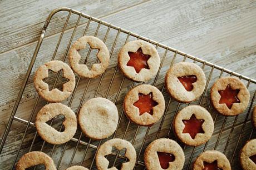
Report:
[{"label": "red jam star in the cookie directly below the upper jam heart cookie", "polygon": [[195,139],[196,134],[204,133],[202,124],[204,123],[203,119],[197,119],[195,114],[192,114],[189,120],[182,120],[185,124],[182,133],[189,133],[192,139]]}]

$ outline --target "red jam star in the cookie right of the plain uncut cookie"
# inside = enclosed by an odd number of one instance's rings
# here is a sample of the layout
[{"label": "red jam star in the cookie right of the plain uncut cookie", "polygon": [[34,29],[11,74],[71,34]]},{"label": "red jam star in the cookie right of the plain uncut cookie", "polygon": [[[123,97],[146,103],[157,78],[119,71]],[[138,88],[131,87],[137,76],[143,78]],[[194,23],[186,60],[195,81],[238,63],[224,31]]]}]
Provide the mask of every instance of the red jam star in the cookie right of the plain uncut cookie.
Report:
[{"label": "red jam star in the cookie right of the plain uncut cookie", "polygon": [[142,94],[139,93],[139,100],[134,103],[134,106],[139,108],[140,115],[144,113],[153,114],[153,107],[155,107],[158,103],[154,101],[152,93]]}]

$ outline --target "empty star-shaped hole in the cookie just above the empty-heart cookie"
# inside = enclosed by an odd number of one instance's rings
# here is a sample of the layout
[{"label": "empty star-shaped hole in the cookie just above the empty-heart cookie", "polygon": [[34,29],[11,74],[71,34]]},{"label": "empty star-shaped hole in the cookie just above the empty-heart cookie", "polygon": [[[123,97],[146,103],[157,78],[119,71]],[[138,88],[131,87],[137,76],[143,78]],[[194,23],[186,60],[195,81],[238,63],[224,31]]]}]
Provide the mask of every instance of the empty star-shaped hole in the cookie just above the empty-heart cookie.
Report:
[{"label": "empty star-shaped hole in the cookie just above the empty-heart cookie", "polygon": [[[53,83],[49,83],[49,84],[47,83],[49,91],[51,91],[54,88],[57,88],[59,91],[62,91],[63,84],[65,84],[69,81],[69,79],[64,77],[63,75],[64,75],[63,69],[60,69],[60,71],[58,71],[58,72],[54,72],[51,69],[48,69],[48,77],[44,78],[43,82],[45,82],[45,83],[53,82]],[[56,80],[56,78],[58,78],[58,79]],[[47,82],[46,82],[46,79],[47,79]]]}]

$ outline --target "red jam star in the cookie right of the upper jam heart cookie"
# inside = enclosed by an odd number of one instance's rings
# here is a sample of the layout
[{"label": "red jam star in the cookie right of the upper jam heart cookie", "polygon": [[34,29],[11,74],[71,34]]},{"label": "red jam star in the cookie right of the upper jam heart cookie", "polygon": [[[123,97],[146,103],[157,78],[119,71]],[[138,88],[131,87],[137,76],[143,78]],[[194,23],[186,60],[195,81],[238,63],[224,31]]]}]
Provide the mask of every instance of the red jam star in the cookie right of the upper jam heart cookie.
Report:
[{"label": "red jam star in the cookie right of the upper jam heart cookie", "polygon": [[240,103],[237,97],[239,91],[239,89],[233,90],[229,85],[224,89],[224,91],[218,91],[221,96],[219,104],[225,103],[227,107],[231,109],[234,103]]}]

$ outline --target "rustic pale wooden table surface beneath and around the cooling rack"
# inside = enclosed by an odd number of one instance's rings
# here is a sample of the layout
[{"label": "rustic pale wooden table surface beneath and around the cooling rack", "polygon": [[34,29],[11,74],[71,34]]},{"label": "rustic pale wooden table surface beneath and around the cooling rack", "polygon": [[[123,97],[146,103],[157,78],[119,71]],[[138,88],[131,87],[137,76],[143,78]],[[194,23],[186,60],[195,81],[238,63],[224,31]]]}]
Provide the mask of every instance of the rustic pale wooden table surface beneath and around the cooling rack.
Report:
[{"label": "rustic pale wooden table surface beneath and around the cooling rack", "polygon": [[[0,96],[1,137],[4,129],[6,128],[9,115],[11,114],[14,102],[16,101],[19,89],[21,88],[21,84],[28,69],[33,52],[35,51],[38,36],[40,36],[45,19],[48,14],[57,7],[69,7],[76,9],[77,11],[100,18],[106,22],[140,34],[141,36],[205,59],[211,63],[218,64],[219,66],[228,68],[234,72],[241,73],[244,76],[256,79],[256,66],[254,66],[254,64],[256,64],[256,1],[0,1],[0,87],[2,92]],[[37,93],[35,89],[33,89],[32,83],[33,73],[38,66],[49,61],[52,57],[66,18],[66,13],[60,13],[52,19],[51,26],[49,31],[47,30],[46,37],[43,42],[43,47],[40,49],[40,53],[38,53],[37,61],[32,69],[31,77],[28,79],[28,85],[22,96],[22,106],[18,109],[16,116],[28,120],[31,114],[31,103],[33,104],[37,98]],[[71,16],[70,22],[68,22],[66,28],[67,34],[72,33],[76,19],[77,18]],[[77,30],[77,32],[82,32],[82,28],[84,29],[85,26],[86,22],[81,21],[81,24],[79,25],[81,31]],[[92,25],[91,27],[92,28],[89,28],[88,30],[88,34],[93,35],[96,26]],[[102,28],[102,32],[104,32],[103,29],[104,28]],[[97,36],[104,39],[104,33],[99,33]],[[79,35],[75,36],[73,41],[78,37]],[[114,39],[114,33],[110,33],[110,37],[109,41]],[[60,49],[56,54],[57,59],[60,59],[65,54],[66,48],[64,47],[64,44],[68,44],[67,38],[66,42],[63,43],[63,46],[62,44],[60,45]],[[63,39],[65,39],[65,36],[63,36]],[[106,44],[110,49],[111,42],[108,42],[107,40]],[[121,46],[121,43],[117,44],[117,49],[114,50],[113,56],[116,57]],[[95,52],[92,52],[92,54],[95,54]],[[89,63],[91,62],[92,61]],[[106,79],[109,77],[111,78],[113,71],[111,68],[115,68],[114,63],[112,65],[110,64],[110,71],[106,73]],[[168,69],[167,66],[166,69]],[[163,77],[164,73],[162,78]],[[116,82],[120,82],[121,80],[122,75],[118,73]],[[50,80],[50,82],[51,81],[53,82],[53,80]],[[83,79],[82,82],[86,83],[88,80]],[[92,80],[92,85],[90,87],[96,87],[98,83],[99,79]],[[127,80],[125,80],[124,84],[127,84],[127,88],[125,88],[125,85],[124,91],[121,91],[120,98],[117,99],[116,103],[119,111],[122,108],[122,97],[124,97],[128,87],[131,85],[130,81]],[[106,86],[108,86],[107,82]],[[118,86],[116,85],[116,87]],[[159,84],[159,88],[160,87],[161,86]],[[81,87],[81,89],[83,88]],[[255,90],[255,86],[250,89],[251,98],[254,93],[253,90]],[[89,88],[85,101],[88,98],[92,98],[95,91],[95,89]],[[81,94],[82,91],[78,93]],[[104,96],[105,93],[106,89],[102,89],[99,91],[99,95],[97,96]],[[166,92],[164,92],[164,95],[167,96],[168,94],[165,93]],[[109,98],[114,101],[115,88],[110,92],[110,94],[112,96],[110,95]],[[208,92],[206,92],[206,94],[208,95]],[[75,97],[73,103],[77,103],[78,105],[80,100],[81,96]],[[68,103],[68,101],[65,102]],[[38,111],[46,102],[40,99],[39,103],[40,104],[36,107],[36,111]],[[205,99],[203,104],[207,106],[207,103],[209,104],[209,101]],[[255,103],[256,102],[254,102],[252,106],[255,106]],[[175,107],[175,104],[177,105],[177,103],[173,102],[171,107]],[[168,113],[170,112],[170,115],[175,112],[171,107],[169,108],[170,111],[168,111]],[[76,110],[76,104],[71,106],[71,108]],[[211,109],[211,112],[213,113],[212,115],[215,116],[215,111],[213,109]],[[245,116],[241,116],[241,118],[238,117],[237,124],[242,124],[244,117]],[[32,122],[34,120],[35,116],[32,118]],[[218,117],[216,121],[217,126],[215,126],[216,137],[213,137],[209,142],[209,147],[207,149],[214,148],[214,144],[216,142],[215,139],[218,137],[223,120],[224,117]],[[216,148],[220,152],[223,152],[223,146],[225,146],[234,121],[234,117],[227,119],[225,124],[225,126],[227,125],[227,128],[225,128],[223,136],[221,136],[219,147]],[[127,119],[124,117],[124,121],[121,123],[127,124]],[[120,127],[120,129],[125,128],[126,124],[124,127]],[[167,121],[166,127],[168,126]],[[239,130],[242,126],[236,127]],[[125,139],[131,141],[134,133],[136,132],[136,128],[137,126],[132,124],[130,130],[127,132],[127,136],[131,137],[127,137]],[[13,122],[11,131],[7,137],[7,142],[0,154],[0,169],[11,168],[25,129],[26,124],[22,124],[17,121]],[[152,129],[158,129],[158,127]],[[252,126],[248,123],[248,126],[245,126],[238,149],[240,149],[240,147],[243,146],[243,143],[248,139],[251,129]],[[139,141],[144,137],[145,132],[146,128],[141,127],[139,129],[139,133],[136,138],[137,144],[136,141],[134,144],[137,153],[140,150]],[[166,137],[167,132],[168,130],[163,130],[161,137]],[[124,133],[124,131],[120,131],[120,134],[118,133],[117,137],[122,137],[122,133]],[[240,131],[234,129],[232,136],[239,136],[239,133]],[[29,127],[21,146],[21,152],[18,154],[18,158],[20,158],[23,153],[28,152],[33,141],[34,134],[35,128]],[[151,134],[154,136],[155,132],[150,133],[150,135]],[[254,134],[253,137],[255,137]],[[82,138],[84,141],[88,142],[87,138]],[[175,137],[171,138],[175,139]],[[238,141],[238,139],[235,137],[230,141],[230,147],[226,152],[229,159],[232,157],[232,151],[234,150],[233,148],[236,141]],[[43,143],[40,137],[37,136],[34,142],[35,146],[32,150],[40,150]],[[60,162],[60,169],[65,169],[68,166],[70,156],[73,153],[73,148],[76,146],[76,143],[73,143],[74,144],[67,146],[65,155],[63,156],[63,161]],[[97,144],[97,142],[95,142],[95,144]],[[43,151],[50,154],[51,148],[52,145],[46,143]],[[56,164],[60,157],[58,153],[60,153],[62,149],[63,145],[56,146],[55,152],[53,152],[52,157]],[[78,145],[77,154],[75,155],[72,164],[80,164],[81,157],[85,149],[85,146]],[[200,151],[194,154],[193,160],[198,156]],[[191,152],[193,152],[193,147],[185,148],[186,166]],[[83,166],[90,167],[94,153],[95,149],[88,149],[88,155],[85,157]],[[142,157],[140,160],[142,160]],[[235,160],[236,161],[233,162],[232,166],[235,167],[235,169],[238,169],[239,165],[237,162],[237,155],[235,155]],[[184,168],[186,168],[186,166]],[[95,165],[93,165],[93,167],[95,167]],[[140,168],[141,167],[138,166],[136,169]]]}]

